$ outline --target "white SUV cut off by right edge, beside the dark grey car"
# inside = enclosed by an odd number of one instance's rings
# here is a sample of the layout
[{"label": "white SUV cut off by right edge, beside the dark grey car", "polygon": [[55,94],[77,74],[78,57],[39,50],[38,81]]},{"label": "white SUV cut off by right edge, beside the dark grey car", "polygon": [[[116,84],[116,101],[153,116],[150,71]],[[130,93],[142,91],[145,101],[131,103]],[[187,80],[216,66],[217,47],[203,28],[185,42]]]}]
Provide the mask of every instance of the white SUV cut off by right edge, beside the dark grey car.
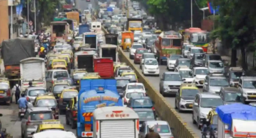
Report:
[{"label": "white SUV cut off by right edge, beside the dark grey car", "polygon": [[243,102],[256,102],[256,77],[242,76],[239,79],[238,89],[242,92]]}]

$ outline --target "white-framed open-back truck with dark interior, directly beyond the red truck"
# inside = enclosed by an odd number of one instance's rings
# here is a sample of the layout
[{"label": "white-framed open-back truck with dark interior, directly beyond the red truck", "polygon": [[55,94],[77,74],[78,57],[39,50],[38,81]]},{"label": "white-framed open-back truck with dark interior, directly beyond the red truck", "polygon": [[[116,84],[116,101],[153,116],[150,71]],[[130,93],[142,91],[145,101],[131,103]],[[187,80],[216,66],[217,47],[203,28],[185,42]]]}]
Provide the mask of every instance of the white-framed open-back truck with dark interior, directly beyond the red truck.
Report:
[{"label": "white-framed open-back truck with dark interior, directly beyond the red truck", "polygon": [[117,61],[117,45],[100,45],[100,57],[110,57],[114,62]]}]

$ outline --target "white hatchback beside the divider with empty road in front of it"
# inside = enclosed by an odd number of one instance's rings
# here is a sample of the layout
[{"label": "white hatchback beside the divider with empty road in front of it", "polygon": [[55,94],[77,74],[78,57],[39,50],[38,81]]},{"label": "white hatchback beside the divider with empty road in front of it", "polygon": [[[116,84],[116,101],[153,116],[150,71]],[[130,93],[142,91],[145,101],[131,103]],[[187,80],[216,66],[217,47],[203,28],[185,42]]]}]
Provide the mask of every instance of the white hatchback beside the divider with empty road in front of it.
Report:
[{"label": "white hatchback beside the divider with empty road in front of it", "polygon": [[147,58],[142,64],[142,74],[159,76],[159,66],[156,59]]}]

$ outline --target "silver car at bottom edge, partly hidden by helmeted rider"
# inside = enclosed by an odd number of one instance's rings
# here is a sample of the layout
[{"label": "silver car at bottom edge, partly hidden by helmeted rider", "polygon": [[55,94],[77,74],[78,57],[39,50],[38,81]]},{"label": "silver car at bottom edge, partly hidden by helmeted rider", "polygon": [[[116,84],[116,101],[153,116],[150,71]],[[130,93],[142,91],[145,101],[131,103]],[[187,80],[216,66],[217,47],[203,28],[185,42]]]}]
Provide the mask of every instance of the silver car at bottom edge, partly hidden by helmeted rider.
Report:
[{"label": "silver car at bottom edge, partly hidden by helmeted rider", "polygon": [[145,138],[149,133],[149,126],[154,125],[154,131],[160,135],[161,138],[173,138],[173,133],[169,124],[166,121],[146,121],[143,122],[141,129],[139,130],[139,138]]}]

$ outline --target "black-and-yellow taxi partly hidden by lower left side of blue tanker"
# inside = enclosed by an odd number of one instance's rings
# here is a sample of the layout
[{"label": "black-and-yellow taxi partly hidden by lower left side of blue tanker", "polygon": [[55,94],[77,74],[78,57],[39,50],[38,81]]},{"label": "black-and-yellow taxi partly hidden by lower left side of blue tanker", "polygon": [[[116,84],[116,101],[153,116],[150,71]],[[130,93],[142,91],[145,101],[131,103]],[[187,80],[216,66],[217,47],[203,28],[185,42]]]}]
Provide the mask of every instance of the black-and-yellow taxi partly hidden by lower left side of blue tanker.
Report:
[{"label": "black-and-yellow taxi partly hidden by lower left side of blue tanker", "polygon": [[66,124],[71,125],[72,129],[77,127],[77,102],[78,97],[73,97],[66,107]]}]

